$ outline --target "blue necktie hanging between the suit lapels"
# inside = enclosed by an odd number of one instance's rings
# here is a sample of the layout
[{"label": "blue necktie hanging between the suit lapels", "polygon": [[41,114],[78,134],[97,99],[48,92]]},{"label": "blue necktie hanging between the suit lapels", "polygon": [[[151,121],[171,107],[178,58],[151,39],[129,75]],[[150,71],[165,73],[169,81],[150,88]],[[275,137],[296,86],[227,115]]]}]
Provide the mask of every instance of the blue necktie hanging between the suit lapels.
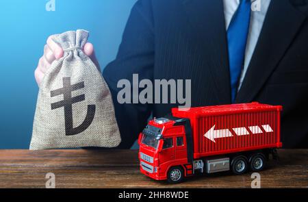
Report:
[{"label": "blue necktie hanging between the suit lapels", "polygon": [[238,81],[244,65],[250,20],[251,0],[242,0],[238,10],[233,14],[227,31],[232,103],[234,103],[238,92]]}]

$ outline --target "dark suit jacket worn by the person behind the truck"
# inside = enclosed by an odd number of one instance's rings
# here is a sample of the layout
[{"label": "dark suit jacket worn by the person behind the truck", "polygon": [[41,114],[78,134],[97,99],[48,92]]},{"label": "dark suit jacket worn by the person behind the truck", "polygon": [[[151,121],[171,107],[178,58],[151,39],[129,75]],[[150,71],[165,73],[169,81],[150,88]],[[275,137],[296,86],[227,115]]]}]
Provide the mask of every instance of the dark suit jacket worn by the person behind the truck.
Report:
[{"label": "dark suit jacket worn by the person behind the truck", "polygon": [[[281,141],[307,147],[308,2],[272,0],[236,103],[283,105]],[[116,60],[103,71],[123,142],[129,148],[147,118],[172,104],[118,104],[119,79],[191,79],[192,107],[231,103],[222,0],[140,0],[133,6]]]}]

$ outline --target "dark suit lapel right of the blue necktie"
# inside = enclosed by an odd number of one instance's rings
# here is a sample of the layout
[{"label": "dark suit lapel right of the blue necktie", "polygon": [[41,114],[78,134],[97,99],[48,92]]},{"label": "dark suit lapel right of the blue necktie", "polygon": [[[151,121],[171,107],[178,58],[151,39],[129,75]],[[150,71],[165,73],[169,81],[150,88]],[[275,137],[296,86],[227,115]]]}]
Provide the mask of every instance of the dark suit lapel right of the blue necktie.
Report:
[{"label": "dark suit lapel right of the blue necktie", "polygon": [[289,0],[272,0],[236,103],[251,102],[296,36],[305,15]]}]

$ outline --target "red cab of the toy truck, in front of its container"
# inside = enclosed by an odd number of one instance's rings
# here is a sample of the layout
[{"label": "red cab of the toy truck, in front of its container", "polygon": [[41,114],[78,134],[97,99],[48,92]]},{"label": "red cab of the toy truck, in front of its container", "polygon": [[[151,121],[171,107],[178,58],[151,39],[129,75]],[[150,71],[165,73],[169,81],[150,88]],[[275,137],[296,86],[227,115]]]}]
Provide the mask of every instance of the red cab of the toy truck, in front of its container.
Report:
[{"label": "red cab of the toy truck, in front of its container", "polygon": [[192,174],[178,166],[188,164],[188,143],[191,142],[185,134],[185,122],[154,118],[140,133],[140,171],[144,175],[156,180],[169,180],[170,175],[174,181]]}]

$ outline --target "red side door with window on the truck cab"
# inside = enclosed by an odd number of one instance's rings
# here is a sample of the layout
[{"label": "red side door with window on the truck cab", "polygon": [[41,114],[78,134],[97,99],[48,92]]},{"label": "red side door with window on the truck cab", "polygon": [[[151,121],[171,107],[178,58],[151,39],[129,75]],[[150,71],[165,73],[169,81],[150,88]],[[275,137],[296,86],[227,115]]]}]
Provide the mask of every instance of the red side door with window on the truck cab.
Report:
[{"label": "red side door with window on the truck cab", "polygon": [[159,164],[175,160],[175,138],[164,138],[162,151],[159,154]]}]

